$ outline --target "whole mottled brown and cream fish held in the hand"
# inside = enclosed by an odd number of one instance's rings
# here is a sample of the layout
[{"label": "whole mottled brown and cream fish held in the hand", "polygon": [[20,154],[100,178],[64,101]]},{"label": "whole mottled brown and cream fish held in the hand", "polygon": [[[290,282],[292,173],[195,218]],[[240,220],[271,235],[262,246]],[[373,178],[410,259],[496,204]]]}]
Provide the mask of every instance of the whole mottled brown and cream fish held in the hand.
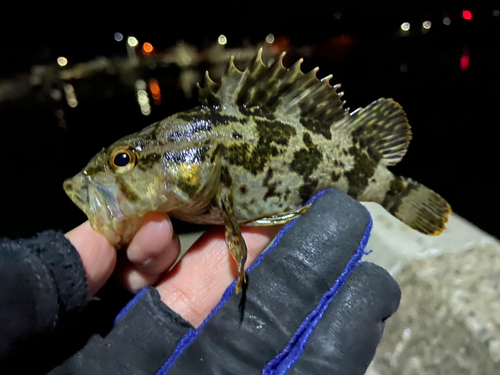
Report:
[{"label": "whole mottled brown and cream fish held in the hand", "polygon": [[239,292],[247,258],[241,227],[288,223],[325,189],[379,203],[421,233],[444,230],[446,200],[388,169],[412,138],[397,102],[380,98],[351,112],[332,75],[303,73],[303,59],[285,68],[285,53],[267,65],[262,53],[244,71],[231,57],[220,83],[207,72],[198,107],[119,139],[64,182],[95,231],[120,247],[148,212],[223,225]]}]

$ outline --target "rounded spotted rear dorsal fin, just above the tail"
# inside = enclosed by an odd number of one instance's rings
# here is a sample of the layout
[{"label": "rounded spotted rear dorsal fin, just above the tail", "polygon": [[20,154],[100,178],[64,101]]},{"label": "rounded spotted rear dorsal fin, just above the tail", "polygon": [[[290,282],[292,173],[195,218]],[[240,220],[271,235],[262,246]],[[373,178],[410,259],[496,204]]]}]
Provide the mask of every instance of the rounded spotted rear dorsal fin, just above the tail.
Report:
[{"label": "rounded spotted rear dorsal fin, just above the tail", "polygon": [[351,132],[354,139],[378,157],[384,165],[395,165],[406,153],[411,128],[403,108],[392,99],[380,98],[351,113],[348,121],[332,131]]}]

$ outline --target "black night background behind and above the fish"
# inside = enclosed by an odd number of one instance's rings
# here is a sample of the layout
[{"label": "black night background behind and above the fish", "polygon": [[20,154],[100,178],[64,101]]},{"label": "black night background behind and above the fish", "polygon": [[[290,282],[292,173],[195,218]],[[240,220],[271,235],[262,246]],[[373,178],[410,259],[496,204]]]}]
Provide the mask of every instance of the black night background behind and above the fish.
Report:
[{"label": "black night background behind and above the fish", "polygon": [[[463,18],[470,10],[472,20]],[[273,33],[287,64],[305,57],[342,83],[351,109],[379,97],[404,107],[413,141],[393,171],[443,195],[454,211],[500,236],[496,175],[500,125],[500,4],[494,2],[349,1],[293,3],[148,2],[74,6],[19,3],[0,12],[0,237],[30,236],[48,228],[67,231],[85,220],[62,190],[101,147],[180,110],[197,105],[178,85],[180,68],[137,69],[126,77],[99,74],[73,80],[78,106],[50,98],[64,82],[35,85],[22,95],[33,66],[55,72],[98,56],[125,59],[121,32],[153,44],[157,53],[180,40],[207,50],[220,34],[226,49],[256,46]],[[443,19],[451,23],[445,25]],[[422,22],[432,22],[424,32]],[[400,25],[410,22],[407,33]],[[138,48],[140,51],[140,47]],[[139,57],[140,53],[138,53]],[[467,64],[468,62],[468,64]],[[202,72],[210,68],[200,63]],[[162,103],[139,110],[135,79],[158,79]],[[10,91],[2,87],[9,84]],[[13,87],[13,88],[12,88]],[[22,91],[22,90],[21,90]],[[151,93],[148,93],[151,95]],[[62,111],[62,112],[61,112]],[[61,118],[61,113],[63,117]],[[57,116],[59,114],[59,118]]]}]

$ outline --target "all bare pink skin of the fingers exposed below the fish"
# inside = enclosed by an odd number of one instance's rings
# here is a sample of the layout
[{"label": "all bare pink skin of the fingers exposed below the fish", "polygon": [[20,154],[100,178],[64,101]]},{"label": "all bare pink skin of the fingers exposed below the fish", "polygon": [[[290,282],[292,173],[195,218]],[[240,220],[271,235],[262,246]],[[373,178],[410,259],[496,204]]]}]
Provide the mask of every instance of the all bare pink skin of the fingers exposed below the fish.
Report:
[{"label": "all bare pink skin of the fingers exposed below the fish", "polygon": [[[242,228],[248,246],[247,267],[282,228]],[[92,230],[88,221],[66,233],[66,237],[80,253],[91,296],[113,273],[134,293],[144,286],[155,285],[161,300],[195,327],[208,316],[238,275],[237,265],[227,250],[223,227],[204,233],[181,264],[166,274],[179,256],[180,242],[170,218],[163,213],[149,213],[130,244],[118,253],[103,235]]]}]

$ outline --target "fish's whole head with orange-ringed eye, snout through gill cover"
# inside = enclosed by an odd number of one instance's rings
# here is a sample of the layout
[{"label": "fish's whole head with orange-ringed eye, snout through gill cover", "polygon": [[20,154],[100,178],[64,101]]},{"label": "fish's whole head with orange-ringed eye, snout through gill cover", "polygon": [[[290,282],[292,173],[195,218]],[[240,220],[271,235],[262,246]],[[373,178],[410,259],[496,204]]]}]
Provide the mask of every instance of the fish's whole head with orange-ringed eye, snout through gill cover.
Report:
[{"label": "fish's whole head with orange-ringed eye, snout through gill cover", "polygon": [[175,115],[154,123],[103,148],[64,182],[64,190],[92,228],[117,246],[130,241],[148,212],[195,222],[221,176],[218,148],[207,144],[206,126]]}]

